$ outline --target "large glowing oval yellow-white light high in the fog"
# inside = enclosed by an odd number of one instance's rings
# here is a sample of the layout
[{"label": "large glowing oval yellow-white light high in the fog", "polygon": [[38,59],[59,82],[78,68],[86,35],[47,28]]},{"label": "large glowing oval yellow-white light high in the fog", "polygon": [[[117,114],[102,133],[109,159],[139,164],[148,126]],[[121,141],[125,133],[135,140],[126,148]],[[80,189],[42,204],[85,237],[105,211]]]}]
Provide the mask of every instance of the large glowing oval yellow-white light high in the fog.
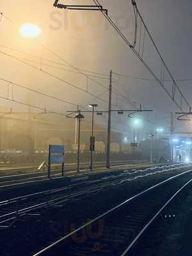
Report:
[{"label": "large glowing oval yellow-white light high in the fog", "polygon": [[20,33],[22,36],[26,38],[32,38],[36,36],[40,36],[41,29],[38,28],[35,24],[27,23],[20,27]]}]

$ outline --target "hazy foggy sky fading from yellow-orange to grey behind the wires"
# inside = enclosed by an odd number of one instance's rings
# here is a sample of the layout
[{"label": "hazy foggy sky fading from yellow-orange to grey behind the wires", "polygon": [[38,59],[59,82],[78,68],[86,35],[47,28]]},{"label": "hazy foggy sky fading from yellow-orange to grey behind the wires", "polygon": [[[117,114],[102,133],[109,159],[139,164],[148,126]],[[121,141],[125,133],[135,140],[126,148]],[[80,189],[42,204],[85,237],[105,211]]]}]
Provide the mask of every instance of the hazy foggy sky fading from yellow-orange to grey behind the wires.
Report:
[{"label": "hazy foggy sky fading from yellow-orange to grey behind the wires", "polygon": [[[120,39],[116,32],[109,26],[99,12],[76,12],[58,10],[52,6],[53,0],[1,0],[0,12],[3,12],[9,19],[2,19],[0,22],[0,45],[12,47],[19,51],[28,52],[36,56],[42,56],[52,61],[62,63],[63,61],[47,51],[45,47],[58,54],[72,65],[109,74],[109,70],[129,76],[152,78],[142,63],[132,54],[130,49]],[[68,1],[72,4],[87,3],[92,1]],[[123,29],[130,42],[134,39],[134,17],[131,0],[100,0],[104,8],[108,8],[109,15]],[[190,79],[191,74],[191,8],[192,3],[189,0],[138,0],[138,8],[143,15],[150,33],[156,42],[159,50],[166,61],[170,71],[175,79]],[[33,22],[42,29],[40,38],[26,40],[19,34],[21,24]],[[44,44],[45,47],[41,45]],[[20,54],[0,47],[0,51],[20,56],[37,63],[32,63],[40,68],[40,60]],[[148,54],[149,52],[149,54]],[[156,67],[157,61],[154,52],[147,51],[146,55],[150,65]],[[28,88],[33,88],[40,92],[49,93],[63,100],[80,104],[87,108],[88,103],[97,102],[98,109],[108,109],[108,104],[101,102],[94,97],[83,93],[76,88],[61,83],[54,77],[47,76],[25,65],[13,58],[0,54],[1,71],[0,77],[8,79],[15,83],[20,83]],[[39,62],[39,64],[38,64]],[[65,64],[65,62],[63,62]],[[64,79],[68,83],[76,84],[79,88],[86,89],[86,77],[79,74],[57,70],[51,67],[44,67],[43,70]],[[62,67],[64,68],[64,67]],[[99,83],[108,87],[109,81],[94,78]],[[155,124],[145,122],[146,131],[152,131],[159,125],[169,129],[169,119],[171,111],[179,111],[178,108],[167,97],[166,93],[155,81],[140,81],[128,79],[125,77],[114,76],[114,79],[124,84],[122,89],[117,83],[113,87],[122,93],[129,100],[143,104],[145,108],[154,109],[154,113],[145,115],[145,120],[150,120]],[[1,95],[6,95],[6,83],[0,81],[2,90]],[[191,81],[179,82],[180,89],[191,102],[192,90]],[[88,81],[88,91],[95,95],[102,95],[102,99],[108,100],[108,93],[92,81]],[[106,93],[104,93],[106,92]],[[103,94],[102,94],[103,93]],[[32,102],[40,108],[51,109],[52,111],[72,110],[75,107],[69,104],[61,104],[55,100],[48,100],[45,97],[36,96],[34,93],[28,93],[22,89],[14,88],[14,99],[24,102]],[[118,108],[132,108],[132,106],[120,96],[113,94],[113,104]],[[25,111],[24,106],[19,104],[5,103],[1,100],[1,106],[13,106],[13,109]],[[113,107],[115,108],[115,107]],[[38,111],[32,109],[32,111]],[[90,118],[90,116],[87,116]],[[104,116],[106,120],[107,116]],[[179,123],[175,121],[177,130],[191,128],[191,122]],[[113,114],[113,129],[120,131],[129,130],[129,120],[127,115],[119,117]]]}]

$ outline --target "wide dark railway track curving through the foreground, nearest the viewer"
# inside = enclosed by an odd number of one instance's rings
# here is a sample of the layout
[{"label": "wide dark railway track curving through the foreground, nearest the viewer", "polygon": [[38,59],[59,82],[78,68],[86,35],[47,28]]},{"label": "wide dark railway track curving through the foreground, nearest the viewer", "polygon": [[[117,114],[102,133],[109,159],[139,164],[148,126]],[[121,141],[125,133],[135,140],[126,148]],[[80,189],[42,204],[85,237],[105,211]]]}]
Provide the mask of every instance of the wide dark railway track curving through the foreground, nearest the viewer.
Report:
[{"label": "wide dark railway track curving through the foreground, nearest the viewer", "polygon": [[74,229],[33,256],[138,256],[132,253],[134,246],[191,182],[192,170],[164,180]]}]

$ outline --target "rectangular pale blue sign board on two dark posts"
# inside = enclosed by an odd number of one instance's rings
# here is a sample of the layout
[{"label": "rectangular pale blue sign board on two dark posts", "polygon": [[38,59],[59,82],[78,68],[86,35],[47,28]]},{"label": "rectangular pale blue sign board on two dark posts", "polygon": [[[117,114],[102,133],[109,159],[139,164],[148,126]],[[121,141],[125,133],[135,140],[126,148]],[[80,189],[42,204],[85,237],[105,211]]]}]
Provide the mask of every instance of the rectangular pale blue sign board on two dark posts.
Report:
[{"label": "rectangular pale blue sign board on two dark posts", "polygon": [[48,178],[51,179],[51,164],[62,164],[62,177],[64,176],[65,146],[49,145]]}]

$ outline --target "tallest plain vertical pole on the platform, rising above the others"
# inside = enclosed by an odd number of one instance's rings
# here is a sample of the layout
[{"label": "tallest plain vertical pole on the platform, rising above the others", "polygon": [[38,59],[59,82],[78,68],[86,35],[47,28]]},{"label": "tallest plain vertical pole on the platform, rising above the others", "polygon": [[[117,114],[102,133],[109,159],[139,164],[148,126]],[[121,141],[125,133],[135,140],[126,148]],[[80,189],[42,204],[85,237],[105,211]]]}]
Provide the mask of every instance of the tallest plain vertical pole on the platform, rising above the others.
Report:
[{"label": "tallest plain vertical pole on the platform, rising above the others", "polygon": [[110,149],[111,149],[111,100],[112,100],[112,70],[110,71],[109,82],[109,112],[108,112],[108,145],[107,145],[107,161],[106,168],[110,168]]}]

